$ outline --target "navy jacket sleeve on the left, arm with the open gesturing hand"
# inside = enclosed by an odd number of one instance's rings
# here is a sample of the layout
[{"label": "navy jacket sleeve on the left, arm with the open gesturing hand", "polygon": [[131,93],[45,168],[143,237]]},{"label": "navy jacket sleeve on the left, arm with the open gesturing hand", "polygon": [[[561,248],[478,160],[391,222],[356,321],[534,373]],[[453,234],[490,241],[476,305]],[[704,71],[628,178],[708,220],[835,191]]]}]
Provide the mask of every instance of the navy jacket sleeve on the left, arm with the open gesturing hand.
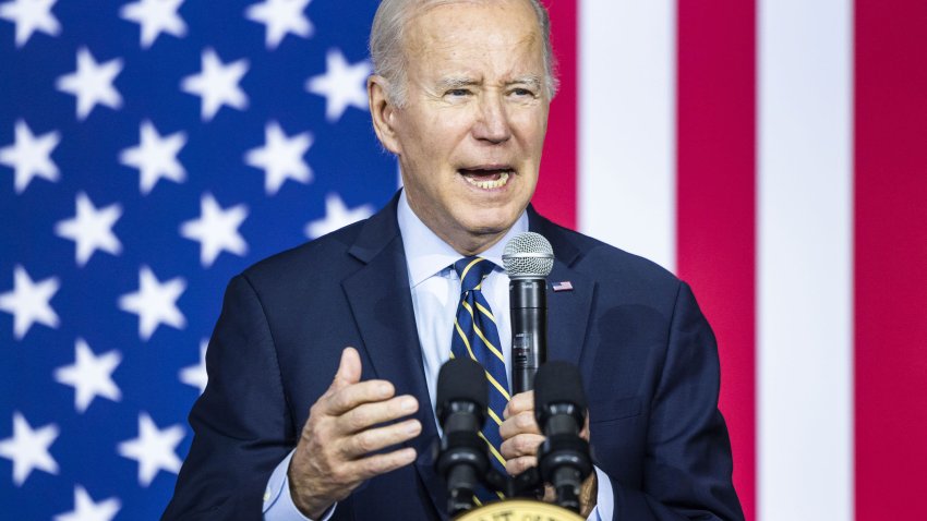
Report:
[{"label": "navy jacket sleeve on the left, arm with the open gesturing hand", "polygon": [[244,276],[226,291],[206,367],[190,413],[193,444],[162,519],[261,519],[267,480],[296,440],[274,339]]}]

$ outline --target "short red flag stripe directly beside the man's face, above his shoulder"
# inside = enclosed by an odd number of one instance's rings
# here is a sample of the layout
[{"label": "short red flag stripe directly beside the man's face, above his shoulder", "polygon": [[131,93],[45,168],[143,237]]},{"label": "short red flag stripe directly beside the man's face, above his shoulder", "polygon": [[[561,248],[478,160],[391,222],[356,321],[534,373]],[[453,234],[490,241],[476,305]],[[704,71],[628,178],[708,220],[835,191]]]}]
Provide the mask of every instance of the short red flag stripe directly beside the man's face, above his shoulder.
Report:
[{"label": "short red flag stripe directly beside the man's face, above his shoulder", "polygon": [[531,199],[554,222],[576,229],[577,206],[577,2],[547,0],[561,88],[551,104],[541,180]]}]

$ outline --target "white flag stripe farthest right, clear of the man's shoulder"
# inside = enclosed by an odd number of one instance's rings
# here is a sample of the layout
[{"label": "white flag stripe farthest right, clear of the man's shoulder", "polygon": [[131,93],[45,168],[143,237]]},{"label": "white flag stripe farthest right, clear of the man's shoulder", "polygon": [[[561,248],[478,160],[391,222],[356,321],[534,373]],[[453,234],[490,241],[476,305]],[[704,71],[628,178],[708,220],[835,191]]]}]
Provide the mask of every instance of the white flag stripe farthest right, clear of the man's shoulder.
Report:
[{"label": "white flag stripe farthest right, clear of the man's shoulder", "polygon": [[759,5],[759,519],[851,521],[853,3]]}]

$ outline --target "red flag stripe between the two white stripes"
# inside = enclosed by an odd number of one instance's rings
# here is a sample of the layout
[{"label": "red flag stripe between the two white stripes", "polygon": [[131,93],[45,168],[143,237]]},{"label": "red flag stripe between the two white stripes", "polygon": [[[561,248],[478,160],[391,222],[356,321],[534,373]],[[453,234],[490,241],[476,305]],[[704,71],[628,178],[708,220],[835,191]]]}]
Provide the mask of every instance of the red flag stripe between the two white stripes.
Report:
[{"label": "red flag stripe between the two white stripes", "polygon": [[734,484],[755,519],[756,5],[677,8],[677,271],[718,337]]}]

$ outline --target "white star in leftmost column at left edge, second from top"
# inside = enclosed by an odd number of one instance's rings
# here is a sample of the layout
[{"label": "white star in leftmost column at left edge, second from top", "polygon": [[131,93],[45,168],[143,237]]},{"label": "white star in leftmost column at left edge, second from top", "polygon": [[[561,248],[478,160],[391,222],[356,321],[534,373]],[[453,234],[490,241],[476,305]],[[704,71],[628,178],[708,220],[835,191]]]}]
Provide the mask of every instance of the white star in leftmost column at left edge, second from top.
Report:
[{"label": "white star in leftmost column at left edge, second from top", "polygon": [[23,120],[16,121],[15,143],[0,148],[0,165],[13,169],[13,185],[21,194],[33,179],[44,178],[58,181],[58,167],[51,160],[51,152],[61,142],[56,131],[36,137]]}]

